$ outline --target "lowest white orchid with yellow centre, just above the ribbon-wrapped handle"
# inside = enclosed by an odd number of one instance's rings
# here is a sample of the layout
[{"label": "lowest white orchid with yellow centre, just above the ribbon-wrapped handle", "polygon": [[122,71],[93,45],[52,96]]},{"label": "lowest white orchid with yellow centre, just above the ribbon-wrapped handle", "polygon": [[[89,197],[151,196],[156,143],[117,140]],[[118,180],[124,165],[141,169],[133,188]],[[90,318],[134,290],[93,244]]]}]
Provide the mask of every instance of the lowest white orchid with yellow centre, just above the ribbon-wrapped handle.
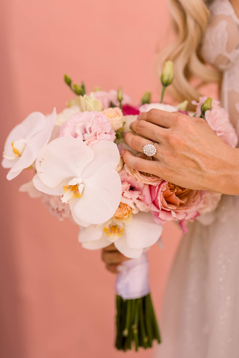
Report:
[{"label": "lowest white orchid with yellow centre, just above the ribbon-wrapped handle", "polygon": [[143,249],[156,243],[163,226],[157,224],[151,213],[139,212],[131,218],[111,218],[102,225],[90,225],[80,229],[79,242],[88,250],[97,250],[114,243],[118,251],[129,258],[137,258]]}]

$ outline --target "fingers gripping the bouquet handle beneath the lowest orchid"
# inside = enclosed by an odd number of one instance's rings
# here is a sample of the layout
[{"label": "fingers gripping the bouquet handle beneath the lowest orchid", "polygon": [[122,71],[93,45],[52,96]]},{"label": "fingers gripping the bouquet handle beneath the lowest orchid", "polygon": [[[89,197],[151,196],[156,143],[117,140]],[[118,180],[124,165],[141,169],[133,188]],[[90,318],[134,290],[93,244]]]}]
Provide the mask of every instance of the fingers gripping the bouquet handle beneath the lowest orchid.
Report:
[{"label": "fingers gripping the bouquet handle beneath the lowest orchid", "polygon": [[106,269],[114,274],[119,274],[119,266],[123,261],[129,260],[127,257],[122,255],[114,244],[103,248],[102,250],[102,261],[106,264]]}]

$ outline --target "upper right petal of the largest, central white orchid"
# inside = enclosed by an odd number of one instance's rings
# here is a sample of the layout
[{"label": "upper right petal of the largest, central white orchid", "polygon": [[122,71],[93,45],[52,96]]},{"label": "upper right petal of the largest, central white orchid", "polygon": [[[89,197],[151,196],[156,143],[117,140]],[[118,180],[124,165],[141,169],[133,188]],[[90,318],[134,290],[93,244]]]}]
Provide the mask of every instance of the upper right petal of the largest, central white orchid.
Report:
[{"label": "upper right petal of the largest, central white orchid", "polygon": [[103,164],[109,165],[110,168],[117,168],[120,160],[120,153],[117,145],[108,140],[100,140],[91,145],[94,153],[94,159],[82,172],[82,178],[89,178]]}]

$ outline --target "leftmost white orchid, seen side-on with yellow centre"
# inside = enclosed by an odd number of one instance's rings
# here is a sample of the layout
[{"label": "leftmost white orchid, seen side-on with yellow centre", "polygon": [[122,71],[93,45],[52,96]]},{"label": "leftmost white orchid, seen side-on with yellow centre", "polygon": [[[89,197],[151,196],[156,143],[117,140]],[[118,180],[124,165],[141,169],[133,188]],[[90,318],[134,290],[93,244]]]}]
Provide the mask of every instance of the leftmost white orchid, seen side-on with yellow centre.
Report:
[{"label": "leftmost white orchid, seen side-on with yellow centre", "polygon": [[56,121],[56,108],[50,116],[33,112],[9,133],[3,152],[2,166],[11,168],[7,179],[11,180],[31,166],[40,151],[47,145]]}]

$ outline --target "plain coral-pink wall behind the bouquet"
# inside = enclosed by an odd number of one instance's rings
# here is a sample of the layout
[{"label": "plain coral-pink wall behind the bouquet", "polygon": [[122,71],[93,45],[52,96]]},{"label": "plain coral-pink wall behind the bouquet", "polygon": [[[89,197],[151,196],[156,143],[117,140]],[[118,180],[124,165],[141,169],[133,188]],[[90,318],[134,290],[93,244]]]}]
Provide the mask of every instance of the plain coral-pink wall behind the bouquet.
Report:
[{"label": "plain coral-pink wall behind the bouquet", "polygon": [[[71,97],[64,73],[89,90],[121,85],[134,103],[146,90],[156,100],[156,45],[169,41],[168,26],[164,0],[2,1],[1,148],[29,112],[62,110]],[[5,175],[1,169],[0,356],[121,357],[113,347],[115,276],[100,252],[82,249],[74,224],[18,192],[31,173],[12,182]],[[179,236],[169,224],[165,250],[149,254],[158,315]]]}]

